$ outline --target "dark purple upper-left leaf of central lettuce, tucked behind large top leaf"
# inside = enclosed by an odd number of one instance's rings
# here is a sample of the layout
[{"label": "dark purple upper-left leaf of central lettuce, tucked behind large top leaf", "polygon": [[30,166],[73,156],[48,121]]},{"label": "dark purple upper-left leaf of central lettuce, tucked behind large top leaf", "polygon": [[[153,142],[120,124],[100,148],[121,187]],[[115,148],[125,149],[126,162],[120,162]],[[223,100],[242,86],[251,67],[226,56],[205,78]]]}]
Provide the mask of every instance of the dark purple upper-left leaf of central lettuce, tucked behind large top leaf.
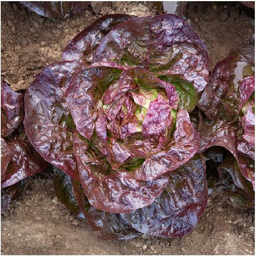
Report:
[{"label": "dark purple upper-left leaf of central lettuce, tucked behind large top leaf", "polygon": [[92,63],[93,53],[102,38],[114,27],[135,16],[126,14],[108,14],[95,20],[78,33],[66,46],[62,60],[77,60]]}]

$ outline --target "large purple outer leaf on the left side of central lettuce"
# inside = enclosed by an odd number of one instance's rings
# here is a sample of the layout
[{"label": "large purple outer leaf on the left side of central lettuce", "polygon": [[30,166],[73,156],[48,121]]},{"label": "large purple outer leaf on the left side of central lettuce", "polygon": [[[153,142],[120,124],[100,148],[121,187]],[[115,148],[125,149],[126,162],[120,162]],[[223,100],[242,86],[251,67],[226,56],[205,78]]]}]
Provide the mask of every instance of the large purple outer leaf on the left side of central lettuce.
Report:
[{"label": "large purple outer leaf on the left side of central lettuce", "polygon": [[66,104],[66,92],[75,72],[85,68],[76,61],[50,64],[25,94],[24,126],[39,154],[69,176],[79,179],[73,153],[75,127]]}]

